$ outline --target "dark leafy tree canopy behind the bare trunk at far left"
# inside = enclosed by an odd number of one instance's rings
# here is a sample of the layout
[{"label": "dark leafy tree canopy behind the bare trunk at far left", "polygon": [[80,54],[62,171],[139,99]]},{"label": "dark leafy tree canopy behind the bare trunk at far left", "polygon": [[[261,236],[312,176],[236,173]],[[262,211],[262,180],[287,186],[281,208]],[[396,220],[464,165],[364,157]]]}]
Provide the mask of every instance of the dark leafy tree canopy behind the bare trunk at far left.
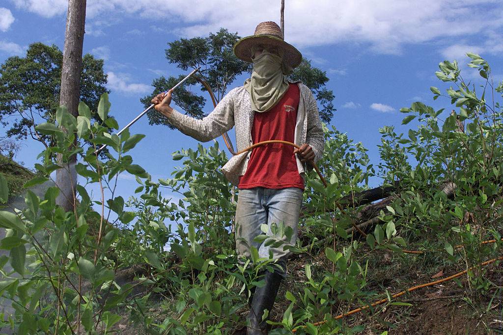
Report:
[{"label": "dark leafy tree canopy behind the bare trunk at far left", "polygon": [[[53,138],[35,130],[35,126],[54,121],[59,106],[61,65],[63,53],[57,46],[33,43],[26,57],[9,57],[0,66],[0,123],[7,136],[16,139],[31,137],[50,146]],[[98,101],[101,94],[110,92],[105,87],[107,75],[103,60],[91,54],[82,57],[80,100],[93,110],[92,119],[98,120]]]}]

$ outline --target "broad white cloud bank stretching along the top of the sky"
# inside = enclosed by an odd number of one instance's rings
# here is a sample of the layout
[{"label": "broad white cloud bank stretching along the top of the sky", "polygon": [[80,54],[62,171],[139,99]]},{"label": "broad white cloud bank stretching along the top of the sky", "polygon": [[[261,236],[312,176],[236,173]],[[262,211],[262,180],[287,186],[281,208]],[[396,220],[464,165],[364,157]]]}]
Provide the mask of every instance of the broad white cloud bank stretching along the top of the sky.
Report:
[{"label": "broad white cloud bank stretching along the top of the sky", "polygon": [[[45,17],[64,14],[67,5],[66,0],[11,1]],[[169,6],[166,0],[88,0],[87,4],[88,18],[127,14],[161,27],[176,21],[181,28],[172,33],[187,37],[204,36],[222,26],[251,35],[259,22],[279,21],[279,2],[271,6],[269,0],[170,0]],[[290,0],[285,38],[300,48],[363,42],[378,53],[396,54],[408,44],[500,31],[502,11],[503,2],[496,0]]]}]

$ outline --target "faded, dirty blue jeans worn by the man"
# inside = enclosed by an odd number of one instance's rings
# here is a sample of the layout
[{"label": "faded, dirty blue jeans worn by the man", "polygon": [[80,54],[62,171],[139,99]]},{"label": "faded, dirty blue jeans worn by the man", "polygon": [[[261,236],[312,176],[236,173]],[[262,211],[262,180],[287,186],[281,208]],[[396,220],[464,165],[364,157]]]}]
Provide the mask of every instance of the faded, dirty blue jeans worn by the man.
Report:
[{"label": "faded, dirty blue jeans worn by the man", "polygon": [[[268,240],[255,242],[254,239],[264,234],[261,225],[268,226],[267,236],[275,240],[282,240],[284,245],[295,245],[297,241],[297,226],[299,223],[300,205],[302,204],[302,190],[297,187],[271,189],[256,187],[240,189],[236,207],[236,250],[239,256],[250,257],[253,246],[259,251],[259,257],[269,258],[272,255],[286,275],[286,260],[290,251],[284,247],[266,246]],[[293,234],[289,240],[286,236],[273,233],[273,224],[284,224],[290,227]]]}]

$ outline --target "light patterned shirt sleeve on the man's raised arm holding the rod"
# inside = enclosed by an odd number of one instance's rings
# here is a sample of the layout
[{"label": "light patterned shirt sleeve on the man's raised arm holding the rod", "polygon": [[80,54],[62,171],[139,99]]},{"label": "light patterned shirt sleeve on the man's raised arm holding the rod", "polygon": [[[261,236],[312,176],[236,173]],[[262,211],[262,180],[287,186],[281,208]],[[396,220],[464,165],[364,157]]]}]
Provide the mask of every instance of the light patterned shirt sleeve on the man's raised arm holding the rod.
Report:
[{"label": "light patterned shirt sleeve on the man's raised arm holding the rod", "polygon": [[234,127],[234,90],[226,94],[203,119],[195,119],[173,109],[168,118],[182,133],[200,142],[213,140]]}]

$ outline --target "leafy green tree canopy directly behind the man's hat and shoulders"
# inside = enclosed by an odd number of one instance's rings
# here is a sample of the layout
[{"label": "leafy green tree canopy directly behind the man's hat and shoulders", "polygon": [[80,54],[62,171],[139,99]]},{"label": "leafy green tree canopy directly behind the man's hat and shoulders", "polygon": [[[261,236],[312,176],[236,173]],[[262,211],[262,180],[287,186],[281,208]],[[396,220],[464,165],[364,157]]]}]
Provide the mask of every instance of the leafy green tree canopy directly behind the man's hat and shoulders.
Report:
[{"label": "leafy green tree canopy directly behind the man's hat and shoulders", "polygon": [[[194,37],[191,39],[181,38],[180,40],[167,43],[166,59],[187,71],[201,67],[204,80],[210,85],[215,93],[215,98],[219,101],[227,91],[229,85],[233,84],[236,77],[242,73],[251,72],[252,65],[234,56],[233,46],[240,39],[237,33],[229,33],[227,29],[221,28],[217,33],[210,33],[208,37]],[[164,92],[173,87],[183,78],[181,76],[161,76],[152,81],[155,87],[152,95]],[[321,120],[329,123],[333,112],[334,95],[331,90],[326,89],[328,82],[326,72],[313,67],[311,62],[303,59],[302,63],[290,75],[293,80],[301,80],[315,94],[321,105]],[[199,85],[199,86],[194,86]],[[195,79],[190,79],[173,92],[176,103],[190,116],[202,118],[204,116],[203,107],[206,99],[195,92],[194,87],[200,87]],[[204,87],[201,90],[205,91]],[[152,95],[141,98],[145,107],[150,105]],[[152,125],[167,125],[173,128],[169,121],[159,113],[152,110],[148,113],[149,123]]]}]

